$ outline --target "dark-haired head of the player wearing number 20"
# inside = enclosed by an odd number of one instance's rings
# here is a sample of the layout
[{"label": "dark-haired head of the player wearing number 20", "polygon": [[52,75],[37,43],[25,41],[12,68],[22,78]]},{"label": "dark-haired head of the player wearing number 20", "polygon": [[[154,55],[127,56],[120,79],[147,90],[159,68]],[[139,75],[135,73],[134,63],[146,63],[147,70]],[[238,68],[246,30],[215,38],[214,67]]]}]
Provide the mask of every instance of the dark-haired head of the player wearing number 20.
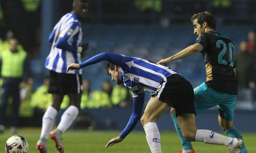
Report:
[{"label": "dark-haired head of the player wearing number 20", "polygon": [[190,18],[194,26],[194,34],[200,35],[207,32],[207,30],[216,30],[216,21],[214,16],[205,11],[198,14],[194,14]]}]

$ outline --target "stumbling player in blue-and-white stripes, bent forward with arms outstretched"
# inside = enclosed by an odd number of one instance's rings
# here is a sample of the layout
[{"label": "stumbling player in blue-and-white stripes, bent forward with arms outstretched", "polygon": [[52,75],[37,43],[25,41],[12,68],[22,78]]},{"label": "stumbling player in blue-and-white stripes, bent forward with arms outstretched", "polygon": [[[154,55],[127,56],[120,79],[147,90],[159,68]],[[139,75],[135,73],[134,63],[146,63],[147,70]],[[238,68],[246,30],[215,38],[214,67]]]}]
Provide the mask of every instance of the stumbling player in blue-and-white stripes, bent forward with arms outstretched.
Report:
[{"label": "stumbling player in blue-and-white stripes, bent forward with arms outstretched", "polygon": [[[187,140],[225,145],[230,152],[236,152],[242,147],[241,139],[228,138],[209,130],[197,130],[193,87],[179,73],[169,67],[140,58],[101,53],[80,64],[69,65],[67,72],[73,69],[79,70],[101,61],[109,62],[106,70],[112,77],[112,81],[128,87],[134,98],[133,113],[125,129],[118,137],[111,139],[105,148],[121,142],[140,119],[151,151],[162,152],[156,121],[170,107],[176,109],[180,129]],[[141,117],[145,91],[153,94]]]}]

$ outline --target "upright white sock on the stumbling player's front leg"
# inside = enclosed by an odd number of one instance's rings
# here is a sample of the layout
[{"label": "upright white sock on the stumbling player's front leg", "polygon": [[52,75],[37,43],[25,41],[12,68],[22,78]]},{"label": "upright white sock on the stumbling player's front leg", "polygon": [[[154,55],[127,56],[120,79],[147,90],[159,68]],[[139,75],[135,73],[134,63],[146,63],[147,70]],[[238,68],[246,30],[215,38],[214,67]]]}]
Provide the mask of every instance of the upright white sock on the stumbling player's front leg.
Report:
[{"label": "upright white sock on the stumbling player's front leg", "polygon": [[162,152],[160,143],[160,133],[156,122],[148,122],[144,126],[146,140],[150,146],[151,152]]}]

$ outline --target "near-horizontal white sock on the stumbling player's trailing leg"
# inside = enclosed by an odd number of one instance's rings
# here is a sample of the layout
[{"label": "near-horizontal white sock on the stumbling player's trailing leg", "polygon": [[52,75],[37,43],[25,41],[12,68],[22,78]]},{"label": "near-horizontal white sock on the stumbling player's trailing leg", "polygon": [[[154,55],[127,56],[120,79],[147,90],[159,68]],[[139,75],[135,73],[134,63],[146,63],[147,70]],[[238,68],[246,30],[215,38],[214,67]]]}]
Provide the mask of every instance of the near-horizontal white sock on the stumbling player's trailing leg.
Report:
[{"label": "near-horizontal white sock on the stumbling player's trailing leg", "polygon": [[232,144],[233,142],[233,138],[228,138],[210,130],[197,130],[195,140],[198,142],[221,144],[225,146],[230,145],[229,143]]}]

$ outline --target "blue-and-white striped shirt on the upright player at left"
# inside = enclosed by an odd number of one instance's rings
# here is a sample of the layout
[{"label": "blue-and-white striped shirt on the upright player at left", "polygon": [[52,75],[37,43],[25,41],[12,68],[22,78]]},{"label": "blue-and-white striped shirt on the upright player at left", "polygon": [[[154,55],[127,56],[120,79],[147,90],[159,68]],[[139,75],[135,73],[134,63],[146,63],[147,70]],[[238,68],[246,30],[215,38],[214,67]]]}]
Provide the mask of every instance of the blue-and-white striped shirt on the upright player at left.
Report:
[{"label": "blue-and-white striped shirt on the upright player at left", "polygon": [[[82,29],[79,18],[73,12],[61,17],[55,25],[49,41],[52,42],[45,67],[49,70],[66,73],[67,65],[81,63],[81,55],[77,47],[81,46]],[[71,70],[69,73],[81,74],[81,70]]]}]

